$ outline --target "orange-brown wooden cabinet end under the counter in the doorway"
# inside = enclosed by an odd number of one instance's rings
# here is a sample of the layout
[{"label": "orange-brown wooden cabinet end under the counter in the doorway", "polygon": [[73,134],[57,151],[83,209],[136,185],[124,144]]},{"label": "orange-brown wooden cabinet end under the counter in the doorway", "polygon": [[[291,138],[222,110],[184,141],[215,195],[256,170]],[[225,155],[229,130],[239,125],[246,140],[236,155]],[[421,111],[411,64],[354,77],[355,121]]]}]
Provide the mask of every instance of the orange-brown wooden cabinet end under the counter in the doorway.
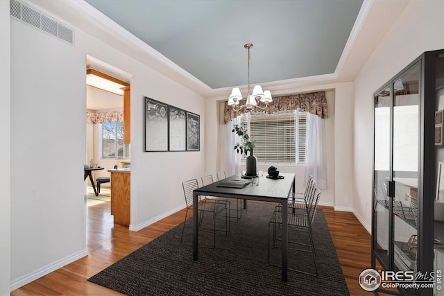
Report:
[{"label": "orange-brown wooden cabinet end under the counter in the doorway", "polygon": [[[122,169],[120,169],[122,170]],[[111,172],[111,215],[114,223],[130,225],[131,173],[110,170]]]}]

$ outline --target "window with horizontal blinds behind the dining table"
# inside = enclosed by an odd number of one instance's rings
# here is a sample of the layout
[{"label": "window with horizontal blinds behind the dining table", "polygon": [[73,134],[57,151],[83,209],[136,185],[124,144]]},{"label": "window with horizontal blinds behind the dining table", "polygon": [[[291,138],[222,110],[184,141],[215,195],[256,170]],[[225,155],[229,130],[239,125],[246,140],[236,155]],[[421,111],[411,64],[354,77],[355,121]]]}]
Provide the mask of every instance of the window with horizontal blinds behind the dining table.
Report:
[{"label": "window with horizontal blinds behind the dining table", "polygon": [[255,141],[253,154],[258,162],[305,163],[307,112],[244,114],[241,125]]}]

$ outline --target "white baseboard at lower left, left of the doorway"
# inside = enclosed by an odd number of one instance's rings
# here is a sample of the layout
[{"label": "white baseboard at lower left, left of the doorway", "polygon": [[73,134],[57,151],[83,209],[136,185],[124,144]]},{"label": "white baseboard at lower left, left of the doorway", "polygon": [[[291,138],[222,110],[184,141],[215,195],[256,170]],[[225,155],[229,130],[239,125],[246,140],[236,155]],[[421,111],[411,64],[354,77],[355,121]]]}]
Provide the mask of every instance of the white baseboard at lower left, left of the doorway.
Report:
[{"label": "white baseboard at lower left, left of the doorway", "polygon": [[11,281],[10,283],[10,290],[18,289],[26,284],[31,283],[31,281],[35,281],[36,279],[40,279],[40,277],[43,277],[44,275],[48,275],[50,272],[53,272],[55,270],[58,270],[59,268],[62,268],[65,265],[68,265],[69,263],[72,263],[80,258],[83,258],[84,256],[88,255],[88,249],[82,250],[80,252],[74,253],[71,256],[67,256],[62,260],[56,261],[54,263],[51,263],[49,265],[46,265],[42,268],[39,268],[33,272],[29,272],[28,275],[24,275],[23,277],[19,277],[18,279],[15,279],[14,281]]}]

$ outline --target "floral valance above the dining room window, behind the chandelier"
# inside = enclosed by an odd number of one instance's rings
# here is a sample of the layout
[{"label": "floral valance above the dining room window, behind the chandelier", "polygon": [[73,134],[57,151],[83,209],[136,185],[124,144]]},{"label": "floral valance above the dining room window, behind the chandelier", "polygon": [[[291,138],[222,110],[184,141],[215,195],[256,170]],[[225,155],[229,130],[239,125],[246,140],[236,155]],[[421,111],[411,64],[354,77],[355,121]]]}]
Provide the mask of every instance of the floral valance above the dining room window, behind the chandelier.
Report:
[{"label": "floral valance above the dining room window, behind the chandelier", "polygon": [[[265,104],[259,102],[259,106]],[[273,102],[268,103],[266,113],[275,113],[278,111],[286,110],[302,110],[315,114],[321,119],[328,117],[327,111],[327,98],[325,92],[312,92],[310,94],[292,94],[290,96],[274,96]],[[240,114],[246,113],[247,110],[235,111],[228,105],[228,101],[225,102],[223,110],[223,124],[230,122]]]}]

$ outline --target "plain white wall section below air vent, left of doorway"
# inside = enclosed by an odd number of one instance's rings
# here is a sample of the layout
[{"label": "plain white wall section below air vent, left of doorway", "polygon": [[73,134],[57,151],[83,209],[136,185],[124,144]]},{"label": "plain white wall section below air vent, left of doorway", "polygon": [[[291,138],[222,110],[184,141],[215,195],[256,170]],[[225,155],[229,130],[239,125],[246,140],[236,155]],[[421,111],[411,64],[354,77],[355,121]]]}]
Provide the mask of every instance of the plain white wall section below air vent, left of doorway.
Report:
[{"label": "plain white wall section below air vent, left of doorway", "polygon": [[11,280],[17,285],[46,265],[87,254],[84,98],[85,55],[11,20]]}]

